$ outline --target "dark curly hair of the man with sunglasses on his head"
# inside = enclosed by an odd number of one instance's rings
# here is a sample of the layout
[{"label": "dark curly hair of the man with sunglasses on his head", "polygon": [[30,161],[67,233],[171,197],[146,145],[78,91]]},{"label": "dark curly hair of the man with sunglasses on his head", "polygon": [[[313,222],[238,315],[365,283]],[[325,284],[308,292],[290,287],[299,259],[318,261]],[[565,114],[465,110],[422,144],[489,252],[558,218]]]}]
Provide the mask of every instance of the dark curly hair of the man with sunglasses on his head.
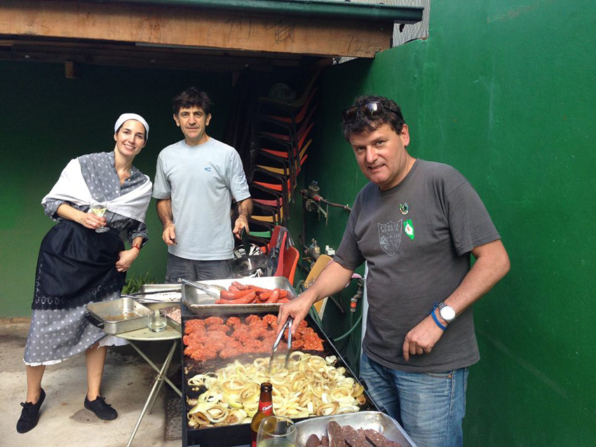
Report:
[{"label": "dark curly hair of the man with sunglasses on his head", "polygon": [[367,116],[361,111],[357,111],[351,121],[346,122],[345,119],[341,123],[341,129],[344,131],[344,138],[349,142],[352,135],[358,135],[363,132],[372,132],[377,129],[379,125],[388,124],[400,133],[405,121],[402,111],[395,101],[383,96],[359,96],[354,99],[353,107],[362,106],[367,102],[379,102],[381,104],[381,111],[378,115]]}]

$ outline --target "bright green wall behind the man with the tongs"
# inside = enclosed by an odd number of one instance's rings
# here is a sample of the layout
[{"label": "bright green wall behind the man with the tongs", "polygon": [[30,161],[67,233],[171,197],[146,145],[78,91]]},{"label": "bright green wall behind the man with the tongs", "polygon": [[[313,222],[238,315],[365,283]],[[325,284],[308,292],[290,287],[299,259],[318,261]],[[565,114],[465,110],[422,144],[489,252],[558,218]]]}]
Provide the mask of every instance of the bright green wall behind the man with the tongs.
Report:
[{"label": "bright green wall behind the man with the tongs", "polygon": [[[435,1],[428,39],[323,76],[306,183],[351,203],[365,179],[341,110],[355,95],[392,97],[409,151],[468,177],[510,255],[474,306],[468,446],[596,445],[595,17],[588,0]],[[327,228],[311,217],[307,237],[337,248],[344,212]]]}]

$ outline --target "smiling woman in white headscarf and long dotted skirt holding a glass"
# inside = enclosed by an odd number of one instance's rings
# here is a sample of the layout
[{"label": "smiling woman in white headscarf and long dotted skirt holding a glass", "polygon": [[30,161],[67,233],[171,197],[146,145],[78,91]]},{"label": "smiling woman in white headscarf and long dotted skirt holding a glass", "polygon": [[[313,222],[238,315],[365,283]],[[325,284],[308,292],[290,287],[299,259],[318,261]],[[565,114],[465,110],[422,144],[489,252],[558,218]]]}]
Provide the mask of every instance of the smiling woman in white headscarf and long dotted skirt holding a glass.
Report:
[{"label": "smiling woman in white headscarf and long dotted skirt holding a glass", "polygon": [[[35,277],[32,319],[24,361],[27,398],[21,403],[19,433],[37,425],[46,398],[41,378],[46,365],[85,352],[87,394],[83,405],[98,418],[112,420],[116,410],[100,395],[106,346],[117,343],[84,317],[86,304],[120,296],[126,270],[147,242],[145,213],[151,181],[133,166],[147,144],[149,125],[142,116],[123,114],[114,125],[114,151],[71,160],[52,191],[43,198],[46,214],[58,223],[41,242]],[[104,216],[90,212],[90,203],[104,195]],[[109,231],[96,232],[108,227]],[[120,233],[126,231],[130,249]]]}]

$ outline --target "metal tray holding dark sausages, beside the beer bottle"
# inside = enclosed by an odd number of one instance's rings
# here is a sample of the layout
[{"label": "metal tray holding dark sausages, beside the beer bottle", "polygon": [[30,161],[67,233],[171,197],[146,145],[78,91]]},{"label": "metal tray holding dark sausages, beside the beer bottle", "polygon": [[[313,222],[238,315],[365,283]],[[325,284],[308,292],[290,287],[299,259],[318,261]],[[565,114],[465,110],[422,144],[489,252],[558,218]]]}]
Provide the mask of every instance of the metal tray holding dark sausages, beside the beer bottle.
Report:
[{"label": "metal tray holding dark sausages, beside the beer bottle", "polygon": [[399,425],[398,421],[380,411],[360,411],[340,415],[320,416],[296,422],[296,445],[306,446],[311,434],[319,438],[327,435],[327,424],[334,420],[339,425],[351,425],[355,429],[373,429],[385,436],[389,441],[396,441],[402,447],[416,447],[416,444]]}]

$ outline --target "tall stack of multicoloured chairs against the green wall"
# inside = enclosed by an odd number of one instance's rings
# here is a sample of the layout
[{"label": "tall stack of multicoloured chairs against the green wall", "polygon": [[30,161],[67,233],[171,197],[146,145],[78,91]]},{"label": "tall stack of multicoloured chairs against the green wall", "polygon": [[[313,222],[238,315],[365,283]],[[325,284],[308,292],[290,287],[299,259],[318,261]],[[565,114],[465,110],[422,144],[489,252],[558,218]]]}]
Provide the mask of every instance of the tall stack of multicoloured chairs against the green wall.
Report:
[{"label": "tall stack of multicoloured chairs against the green wall", "polygon": [[255,205],[251,235],[271,233],[275,226],[285,225],[290,216],[289,204],[297,177],[313,141],[317,77],[318,72],[293,101],[259,98],[257,149],[249,184]]}]

